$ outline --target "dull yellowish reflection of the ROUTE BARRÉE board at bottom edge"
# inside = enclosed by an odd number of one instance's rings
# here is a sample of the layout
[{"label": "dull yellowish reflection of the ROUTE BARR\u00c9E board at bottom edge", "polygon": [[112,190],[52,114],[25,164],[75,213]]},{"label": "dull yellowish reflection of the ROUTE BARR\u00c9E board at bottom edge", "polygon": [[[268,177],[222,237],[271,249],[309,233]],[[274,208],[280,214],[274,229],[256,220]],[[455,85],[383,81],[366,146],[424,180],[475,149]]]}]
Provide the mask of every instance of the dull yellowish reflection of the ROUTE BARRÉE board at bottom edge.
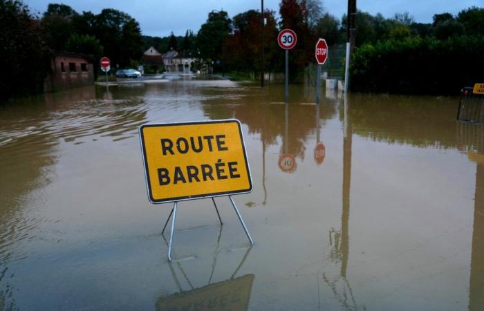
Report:
[{"label": "dull yellowish reflection of the ROUTE BARR\u00c9E board at bottom edge", "polygon": [[253,282],[254,274],[247,274],[189,292],[180,292],[159,299],[156,302],[156,310],[245,311],[248,309]]}]

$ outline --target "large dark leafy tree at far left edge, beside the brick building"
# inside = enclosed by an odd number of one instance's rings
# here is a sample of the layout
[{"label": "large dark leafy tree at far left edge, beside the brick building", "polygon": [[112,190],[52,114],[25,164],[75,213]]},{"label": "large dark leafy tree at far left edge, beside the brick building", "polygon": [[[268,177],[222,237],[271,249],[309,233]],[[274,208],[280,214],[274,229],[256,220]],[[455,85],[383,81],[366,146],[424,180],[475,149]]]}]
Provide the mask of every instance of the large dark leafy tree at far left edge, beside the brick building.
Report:
[{"label": "large dark leafy tree at far left edge, beside the brick building", "polygon": [[40,93],[50,53],[44,30],[21,1],[0,0],[0,98]]}]

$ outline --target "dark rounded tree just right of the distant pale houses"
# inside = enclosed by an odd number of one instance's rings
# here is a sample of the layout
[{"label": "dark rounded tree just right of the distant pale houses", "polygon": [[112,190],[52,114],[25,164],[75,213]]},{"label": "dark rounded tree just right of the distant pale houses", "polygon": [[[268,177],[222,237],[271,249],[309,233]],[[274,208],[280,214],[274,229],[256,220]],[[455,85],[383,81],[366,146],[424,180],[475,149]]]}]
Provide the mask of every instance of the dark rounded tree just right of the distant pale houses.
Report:
[{"label": "dark rounded tree just right of the distant pale houses", "polygon": [[222,58],[222,46],[232,32],[232,21],[225,11],[212,11],[198,30],[197,46],[201,57],[216,61]]}]

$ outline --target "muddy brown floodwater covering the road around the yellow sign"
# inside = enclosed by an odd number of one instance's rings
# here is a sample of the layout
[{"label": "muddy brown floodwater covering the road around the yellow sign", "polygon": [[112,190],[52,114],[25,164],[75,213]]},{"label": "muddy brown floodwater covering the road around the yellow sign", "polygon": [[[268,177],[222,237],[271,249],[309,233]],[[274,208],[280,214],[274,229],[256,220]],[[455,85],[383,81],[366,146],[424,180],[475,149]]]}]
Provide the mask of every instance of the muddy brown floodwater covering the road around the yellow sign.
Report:
[{"label": "muddy brown floodwater covering the road around the yellow sign", "polygon": [[[179,79],[0,104],[0,309],[484,310],[483,127],[458,97],[314,101]],[[255,244],[228,198],[223,226],[180,202],[169,263],[138,127],[232,117]]]}]

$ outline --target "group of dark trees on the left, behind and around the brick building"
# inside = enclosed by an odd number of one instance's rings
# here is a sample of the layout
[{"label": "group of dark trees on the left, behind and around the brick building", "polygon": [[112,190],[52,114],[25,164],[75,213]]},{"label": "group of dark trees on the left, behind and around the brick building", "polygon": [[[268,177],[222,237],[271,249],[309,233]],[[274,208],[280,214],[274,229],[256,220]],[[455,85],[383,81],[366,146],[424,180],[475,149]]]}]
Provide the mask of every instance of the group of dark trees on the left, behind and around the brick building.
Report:
[{"label": "group of dark trees on the left, behind and around the brick building", "polygon": [[19,0],[0,0],[0,42],[0,98],[41,93],[57,53],[83,55],[97,72],[102,55],[123,67],[143,52],[140,25],[125,12],[78,13],[50,3],[39,16]]}]

